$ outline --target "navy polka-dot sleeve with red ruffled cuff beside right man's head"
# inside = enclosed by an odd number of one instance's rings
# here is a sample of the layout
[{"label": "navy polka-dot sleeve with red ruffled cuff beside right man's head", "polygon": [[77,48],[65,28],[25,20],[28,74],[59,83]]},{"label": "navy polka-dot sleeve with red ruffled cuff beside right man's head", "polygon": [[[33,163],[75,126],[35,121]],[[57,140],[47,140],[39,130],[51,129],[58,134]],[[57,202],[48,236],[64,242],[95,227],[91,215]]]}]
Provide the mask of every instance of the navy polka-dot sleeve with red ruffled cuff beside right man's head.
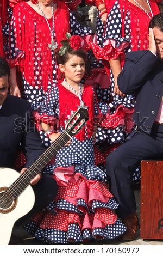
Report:
[{"label": "navy polka-dot sleeve with red ruffled cuff beside right man's head", "polygon": [[[113,20],[117,23],[117,26],[113,26]],[[118,56],[124,57],[124,49],[129,46],[129,12],[123,11],[120,8],[118,1],[112,6],[108,12],[108,18],[106,20],[106,27],[104,34],[101,34],[101,30],[97,31],[93,42],[90,42],[90,46],[98,59],[116,59]],[[101,19],[97,17],[97,22],[101,22]],[[125,35],[124,35],[125,31]]]}]

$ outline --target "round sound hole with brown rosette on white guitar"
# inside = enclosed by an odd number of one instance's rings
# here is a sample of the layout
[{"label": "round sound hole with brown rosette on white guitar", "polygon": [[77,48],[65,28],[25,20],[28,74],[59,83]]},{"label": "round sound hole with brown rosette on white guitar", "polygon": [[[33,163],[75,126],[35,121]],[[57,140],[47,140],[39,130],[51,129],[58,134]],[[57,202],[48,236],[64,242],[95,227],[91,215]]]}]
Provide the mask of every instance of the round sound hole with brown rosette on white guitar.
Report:
[{"label": "round sound hole with brown rosette on white guitar", "polygon": [[11,209],[14,204],[14,199],[12,195],[8,192],[5,191],[4,188],[1,188],[1,193],[0,193],[0,208],[1,210],[5,211],[8,209]]}]

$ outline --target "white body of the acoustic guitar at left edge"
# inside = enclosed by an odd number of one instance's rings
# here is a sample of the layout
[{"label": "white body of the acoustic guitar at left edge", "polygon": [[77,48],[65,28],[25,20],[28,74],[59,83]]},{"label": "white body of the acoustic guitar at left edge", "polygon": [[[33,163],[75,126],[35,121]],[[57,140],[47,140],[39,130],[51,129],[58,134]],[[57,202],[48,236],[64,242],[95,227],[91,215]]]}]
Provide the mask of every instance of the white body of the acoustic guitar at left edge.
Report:
[{"label": "white body of the acoustic guitar at left edge", "polygon": [[[26,215],[35,202],[33,189],[28,185],[23,192],[13,200],[10,194],[5,196],[6,203],[3,203],[2,195],[5,190],[20,176],[18,172],[10,168],[0,168],[0,245],[8,245],[14,223]],[[9,202],[8,202],[9,201]]]}]

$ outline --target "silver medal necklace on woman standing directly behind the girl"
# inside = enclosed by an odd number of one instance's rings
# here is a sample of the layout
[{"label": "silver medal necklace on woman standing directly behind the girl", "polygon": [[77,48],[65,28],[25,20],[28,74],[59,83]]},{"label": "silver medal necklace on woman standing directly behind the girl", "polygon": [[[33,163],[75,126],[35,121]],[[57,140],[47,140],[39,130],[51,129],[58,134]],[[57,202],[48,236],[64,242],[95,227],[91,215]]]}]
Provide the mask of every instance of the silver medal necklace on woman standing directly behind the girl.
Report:
[{"label": "silver medal necklace on woman standing directly behind the girl", "polygon": [[55,49],[57,49],[58,47],[58,44],[55,44],[55,41],[54,41],[54,5],[52,3],[52,29],[51,29],[51,26],[49,25],[49,22],[47,20],[47,17],[45,16],[45,13],[43,13],[41,7],[39,6],[38,3],[36,3],[37,5],[37,8],[39,8],[39,10],[41,11],[43,17],[45,18],[46,20],[46,23],[48,25],[48,28],[49,28],[49,31],[51,33],[51,44],[48,44],[48,47],[51,49],[51,51],[54,51]]}]

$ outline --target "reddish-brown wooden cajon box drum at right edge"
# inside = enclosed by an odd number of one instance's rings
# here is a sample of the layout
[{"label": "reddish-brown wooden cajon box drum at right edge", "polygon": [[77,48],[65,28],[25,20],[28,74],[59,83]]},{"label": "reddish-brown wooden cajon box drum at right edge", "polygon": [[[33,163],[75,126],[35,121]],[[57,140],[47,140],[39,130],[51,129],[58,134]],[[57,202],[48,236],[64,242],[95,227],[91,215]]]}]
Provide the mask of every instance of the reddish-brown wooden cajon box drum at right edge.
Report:
[{"label": "reddish-brown wooden cajon box drum at right edge", "polygon": [[163,240],[163,161],[141,161],[140,238]]}]

